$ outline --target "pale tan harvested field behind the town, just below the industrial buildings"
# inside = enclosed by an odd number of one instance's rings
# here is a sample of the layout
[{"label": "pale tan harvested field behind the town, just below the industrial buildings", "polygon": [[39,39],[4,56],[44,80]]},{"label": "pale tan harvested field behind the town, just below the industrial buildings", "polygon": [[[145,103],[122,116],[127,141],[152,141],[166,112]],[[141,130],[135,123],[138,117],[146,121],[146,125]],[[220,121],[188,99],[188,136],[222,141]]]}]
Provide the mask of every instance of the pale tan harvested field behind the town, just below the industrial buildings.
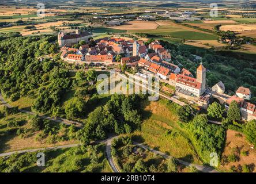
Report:
[{"label": "pale tan harvested field behind the town, just below the industrial buildings", "polygon": [[141,29],[156,29],[157,26],[158,25],[155,22],[130,21],[130,22],[127,22],[125,25],[114,26],[111,28],[121,29],[121,30],[141,30]]}]

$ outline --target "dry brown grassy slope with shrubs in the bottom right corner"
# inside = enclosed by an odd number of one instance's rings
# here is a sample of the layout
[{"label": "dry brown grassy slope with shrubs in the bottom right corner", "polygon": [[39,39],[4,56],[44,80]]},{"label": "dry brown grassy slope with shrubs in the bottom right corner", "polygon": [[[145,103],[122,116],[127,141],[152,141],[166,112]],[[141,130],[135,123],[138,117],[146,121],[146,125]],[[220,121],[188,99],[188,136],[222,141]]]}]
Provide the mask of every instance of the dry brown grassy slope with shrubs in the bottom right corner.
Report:
[{"label": "dry brown grassy slope with shrubs in the bottom right corner", "polygon": [[[256,164],[256,151],[252,150],[251,144],[246,141],[246,138],[241,133],[236,131],[227,130],[227,138],[225,142],[224,152],[222,154],[222,162],[220,168],[223,170],[230,170],[231,166],[238,167],[243,166],[244,164]],[[225,163],[225,158],[232,154],[234,150],[238,150],[239,161]],[[240,154],[242,151],[247,152],[247,155]],[[256,169],[253,170],[256,173]]]}]

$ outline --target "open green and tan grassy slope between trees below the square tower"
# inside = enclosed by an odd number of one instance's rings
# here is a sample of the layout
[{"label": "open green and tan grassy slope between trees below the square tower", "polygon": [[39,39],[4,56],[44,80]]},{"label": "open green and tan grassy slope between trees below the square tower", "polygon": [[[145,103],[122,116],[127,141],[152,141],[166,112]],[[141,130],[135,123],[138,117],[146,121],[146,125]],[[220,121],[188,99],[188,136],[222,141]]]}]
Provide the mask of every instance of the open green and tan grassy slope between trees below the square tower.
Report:
[{"label": "open green and tan grassy slope between trees below the square tower", "polygon": [[163,99],[143,104],[144,120],[134,139],[175,158],[200,163],[189,135],[177,123],[176,108],[176,104]]}]

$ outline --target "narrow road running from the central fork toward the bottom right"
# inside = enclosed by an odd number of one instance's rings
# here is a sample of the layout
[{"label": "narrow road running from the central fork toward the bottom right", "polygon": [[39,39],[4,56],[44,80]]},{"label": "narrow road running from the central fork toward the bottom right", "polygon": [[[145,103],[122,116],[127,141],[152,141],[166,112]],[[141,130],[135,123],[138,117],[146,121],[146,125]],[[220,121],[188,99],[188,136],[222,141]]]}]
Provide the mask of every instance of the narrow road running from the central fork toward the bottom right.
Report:
[{"label": "narrow road running from the central fork toward the bottom right", "polygon": [[[153,150],[152,148],[150,148],[150,147],[148,147],[144,144],[136,143],[136,142],[133,142],[133,144],[137,145],[138,147],[144,148],[145,150],[149,150],[149,151],[151,151],[151,152],[153,152],[157,155],[161,155],[165,159],[172,158],[172,156],[169,156],[169,155],[164,154],[163,152],[160,152],[160,151],[157,151],[157,150]],[[193,164],[193,163],[185,162],[185,161],[180,160],[180,159],[178,159],[178,161],[179,161],[180,164],[183,164],[185,166],[194,166],[195,168],[197,168],[197,170],[199,170],[203,173],[219,173],[219,171],[214,170],[214,168],[209,167],[209,166],[202,166],[202,165],[198,165],[198,164]]]}]

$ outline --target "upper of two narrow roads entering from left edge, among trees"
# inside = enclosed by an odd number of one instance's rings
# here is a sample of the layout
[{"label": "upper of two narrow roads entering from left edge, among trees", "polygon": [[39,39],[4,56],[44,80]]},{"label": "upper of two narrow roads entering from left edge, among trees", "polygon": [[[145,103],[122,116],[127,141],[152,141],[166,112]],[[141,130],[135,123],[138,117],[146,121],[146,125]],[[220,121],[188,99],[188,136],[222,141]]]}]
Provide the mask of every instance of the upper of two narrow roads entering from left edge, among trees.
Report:
[{"label": "upper of two narrow roads entering from left edge, among trees", "polygon": [[[7,108],[12,108],[13,106],[11,106],[10,104],[7,104],[7,102],[5,101],[5,99],[3,99],[3,96],[2,94],[0,93],[0,101],[2,102],[3,105],[5,105]],[[27,110],[22,110],[22,109],[19,109],[20,112],[23,112],[23,113],[28,113],[28,114],[31,114],[31,115],[36,115],[37,113],[34,113],[34,112],[30,112],[30,111],[27,111]],[[77,121],[71,121],[71,120],[66,120],[66,119],[63,119],[63,118],[52,118],[52,117],[47,117],[47,116],[39,116],[39,118],[42,118],[42,119],[46,119],[46,120],[51,120],[51,121],[54,121],[54,122],[59,122],[61,124],[66,124],[66,125],[74,125],[75,127],[77,128],[83,128],[84,125],[81,123],[81,122],[77,122]]]}]

